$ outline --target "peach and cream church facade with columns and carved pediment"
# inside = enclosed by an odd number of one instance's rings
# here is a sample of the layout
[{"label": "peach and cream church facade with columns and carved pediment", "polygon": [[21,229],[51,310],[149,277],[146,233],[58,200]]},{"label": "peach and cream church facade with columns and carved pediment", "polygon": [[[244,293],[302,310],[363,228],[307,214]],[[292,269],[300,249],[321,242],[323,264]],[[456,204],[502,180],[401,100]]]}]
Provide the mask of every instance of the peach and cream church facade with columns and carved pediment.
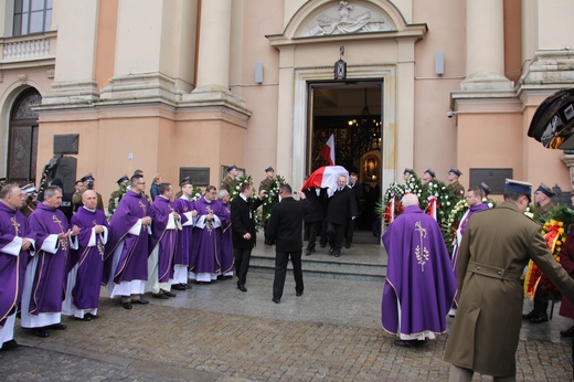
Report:
[{"label": "peach and cream church facade with columns and carved pediment", "polygon": [[[104,195],[144,170],[219,187],[236,165],[295,188],[336,163],[572,190],[571,156],[528,138],[574,83],[567,0],[3,0],[0,177],[73,158]],[[336,71],[339,62],[339,72]],[[73,179],[72,178],[72,179]],[[66,185],[70,181],[66,182]],[[71,191],[71,190],[68,190]]]}]

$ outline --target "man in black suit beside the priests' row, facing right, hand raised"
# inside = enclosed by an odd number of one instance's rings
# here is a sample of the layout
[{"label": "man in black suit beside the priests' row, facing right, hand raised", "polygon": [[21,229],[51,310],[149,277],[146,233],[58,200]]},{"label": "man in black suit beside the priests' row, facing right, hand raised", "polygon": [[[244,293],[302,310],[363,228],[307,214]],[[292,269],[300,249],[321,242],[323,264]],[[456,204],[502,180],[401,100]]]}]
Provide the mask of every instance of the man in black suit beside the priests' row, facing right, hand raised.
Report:
[{"label": "man in black suit beside the priests' row, facing right, hand raised", "polygon": [[251,198],[253,185],[242,183],[240,194],[231,202],[231,223],[233,257],[235,258],[235,274],[237,275],[237,289],[247,291],[245,280],[249,268],[251,252],[255,246],[255,210],[263,204],[261,198],[265,195],[265,190],[259,192],[259,198],[255,201]]}]

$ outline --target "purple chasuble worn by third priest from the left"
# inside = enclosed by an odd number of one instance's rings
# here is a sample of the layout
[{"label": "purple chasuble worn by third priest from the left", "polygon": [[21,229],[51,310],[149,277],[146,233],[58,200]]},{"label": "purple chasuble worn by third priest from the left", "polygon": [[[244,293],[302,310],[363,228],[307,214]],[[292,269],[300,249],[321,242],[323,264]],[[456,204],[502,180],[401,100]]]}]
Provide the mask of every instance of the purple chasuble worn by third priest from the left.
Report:
[{"label": "purple chasuble worn by third priest from the left", "polygon": [[[96,234],[94,226],[108,226],[106,215],[100,210],[89,211],[81,206],[72,216],[72,226],[77,225],[78,250],[72,250],[68,269],[76,264],[76,283],[72,289],[72,301],[77,309],[96,309],[99,303],[102,270],[104,268],[104,233]],[[91,243],[95,238],[94,243]]]}]

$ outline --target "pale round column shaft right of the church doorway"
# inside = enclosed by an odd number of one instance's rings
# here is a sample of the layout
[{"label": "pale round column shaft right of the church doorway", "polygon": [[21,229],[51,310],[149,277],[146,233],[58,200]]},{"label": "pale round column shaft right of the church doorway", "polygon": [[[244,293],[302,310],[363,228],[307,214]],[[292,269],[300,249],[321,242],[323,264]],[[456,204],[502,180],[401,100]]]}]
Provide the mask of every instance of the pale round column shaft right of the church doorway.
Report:
[{"label": "pale round column shaft right of the church doorway", "polygon": [[467,0],[466,78],[463,91],[511,91],[504,77],[502,0]]}]

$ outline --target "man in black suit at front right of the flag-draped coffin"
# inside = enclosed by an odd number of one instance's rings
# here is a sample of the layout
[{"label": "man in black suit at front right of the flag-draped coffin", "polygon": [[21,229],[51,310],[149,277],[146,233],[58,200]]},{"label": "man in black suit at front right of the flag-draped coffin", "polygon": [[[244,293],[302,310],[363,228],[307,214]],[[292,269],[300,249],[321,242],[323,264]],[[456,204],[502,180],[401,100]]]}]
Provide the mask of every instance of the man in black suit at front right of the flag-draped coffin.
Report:
[{"label": "man in black suit at front right of the flag-draped coffin", "polygon": [[347,177],[337,179],[337,191],[329,198],[327,206],[327,235],[329,236],[329,255],[339,257],[344,240],[344,229],[348,220],[357,217],[354,192],[347,185]]}]

